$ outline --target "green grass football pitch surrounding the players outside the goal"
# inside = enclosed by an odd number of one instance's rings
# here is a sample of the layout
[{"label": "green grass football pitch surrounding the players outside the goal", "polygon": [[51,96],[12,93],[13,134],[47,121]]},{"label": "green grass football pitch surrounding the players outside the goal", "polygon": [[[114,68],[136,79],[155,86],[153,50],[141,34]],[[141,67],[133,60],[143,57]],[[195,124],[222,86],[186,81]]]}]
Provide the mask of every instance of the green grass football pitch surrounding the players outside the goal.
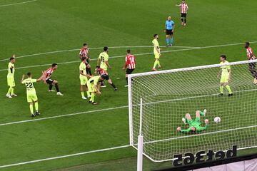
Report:
[{"label": "green grass football pitch surrounding the players outside the goal", "polygon": [[[230,62],[244,61],[246,41],[257,51],[257,12],[252,8],[257,6],[256,1],[188,0],[187,26],[181,26],[180,11],[175,6],[179,3],[1,0],[0,170],[136,170],[136,150],[129,146],[128,90],[122,70],[128,48],[136,57],[134,73],[151,71],[154,33],[158,33],[163,51],[161,70],[219,63],[221,54]],[[168,16],[176,28],[173,47],[167,48],[163,29]],[[89,45],[92,68],[103,47],[109,46],[109,75],[119,90],[109,85],[102,88],[101,96],[96,97],[98,105],[81,99],[79,50],[83,43]],[[5,97],[6,74],[13,54],[17,57],[18,97],[9,99]],[[39,78],[51,63],[59,64],[52,78],[59,81],[64,96],[49,93],[46,84],[36,83],[41,116],[31,119],[26,89],[19,83],[21,76],[30,71]],[[251,96],[246,93],[244,99]],[[208,99],[215,103],[214,98]],[[181,105],[186,108],[186,104]],[[238,115],[242,108],[236,107]],[[213,108],[212,118],[216,110]],[[232,115],[226,116],[228,120]],[[221,128],[211,131],[215,129]],[[219,143],[222,145],[222,140]],[[256,150],[244,150],[239,155],[250,152]],[[143,161],[144,170],[166,166],[171,162]]]}]

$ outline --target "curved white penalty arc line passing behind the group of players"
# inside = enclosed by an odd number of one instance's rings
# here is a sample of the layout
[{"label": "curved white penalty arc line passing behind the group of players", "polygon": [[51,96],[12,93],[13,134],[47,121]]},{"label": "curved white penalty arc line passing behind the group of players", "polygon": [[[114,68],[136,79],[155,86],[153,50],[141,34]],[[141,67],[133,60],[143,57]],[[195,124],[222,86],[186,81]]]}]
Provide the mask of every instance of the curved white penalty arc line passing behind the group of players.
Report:
[{"label": "curved white penalty arc line passing behind the group of players", "polygon": [[[166,46],[161,46],[161,48],[164,48]],[[95,50],[95,49],[102,49],[103,47],[98,47],[98,48],[89,48],[90,50]],[[109,48],[153,48],[153,46],[112,46]],[[198,47],[192,47],[192,46],[171,46],[168,48],[198,48]],[[25,58],[29,56],[41,56],[41,55],[47,55],[47,54],[52,54],[52,53],[62,53],[62,52],[69,52],[69,51],[80,51],[80,48],[74,48],[74,49],[69,49],[69,50],[61,50],[61,51],[50,51],[50,52],[43,52],[43,53],[34,53],[31,55],[24,55],[24,56],[17,56],[16,58]],[[1,61],[8,61],[9,58],[1,59]]]}]

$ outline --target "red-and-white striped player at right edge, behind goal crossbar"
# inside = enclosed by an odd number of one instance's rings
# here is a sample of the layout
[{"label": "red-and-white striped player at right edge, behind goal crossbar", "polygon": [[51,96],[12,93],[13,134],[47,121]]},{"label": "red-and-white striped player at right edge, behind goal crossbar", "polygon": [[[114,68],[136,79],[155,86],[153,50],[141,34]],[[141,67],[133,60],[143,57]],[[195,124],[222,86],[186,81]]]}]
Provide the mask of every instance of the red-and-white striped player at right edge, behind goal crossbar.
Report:
[{"label": "red-and-white striped player at right edge, behind goal crossbar", "polygon": [[[245,48],[246,48],[246,53],[247,53],[248,60],[255,60],[256,56],[254,56],[253,50],[251,49],[249,42],[246,42]],[[256,63],[249,63],[248,68],[249,68],[249,71],[251,72],[251,74],[254,78],[253,83],[257,84]]]}]

